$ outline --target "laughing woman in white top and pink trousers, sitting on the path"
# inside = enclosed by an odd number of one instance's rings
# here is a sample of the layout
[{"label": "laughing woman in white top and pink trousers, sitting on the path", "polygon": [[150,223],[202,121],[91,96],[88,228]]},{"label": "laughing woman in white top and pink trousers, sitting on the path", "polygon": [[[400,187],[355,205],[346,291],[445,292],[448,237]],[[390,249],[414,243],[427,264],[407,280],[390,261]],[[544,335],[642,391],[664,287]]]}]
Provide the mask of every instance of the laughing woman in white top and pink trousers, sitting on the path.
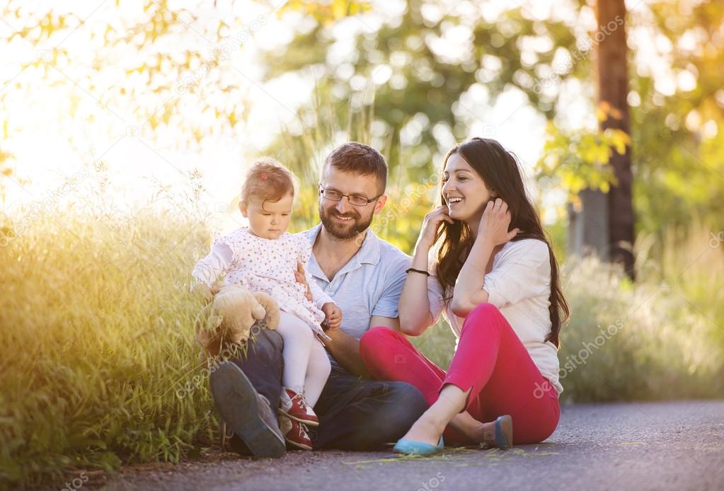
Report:
[{"label": "laughing woman in white top and pink trousers, sitting on the path", "polygon": [[421,335],[444,307],[458,337],[450,369],[399,332],[375,327],[361,338],[374,377],[410,382],[430,404],[395,450],[436,453],[443,432],[487,447],[542,442],[560,415],[558,333],[568,317],[553,251],[515,158],[497,141],[452,148],[441,185],[444,204],[425,217],[400,295],[400,327]]}]

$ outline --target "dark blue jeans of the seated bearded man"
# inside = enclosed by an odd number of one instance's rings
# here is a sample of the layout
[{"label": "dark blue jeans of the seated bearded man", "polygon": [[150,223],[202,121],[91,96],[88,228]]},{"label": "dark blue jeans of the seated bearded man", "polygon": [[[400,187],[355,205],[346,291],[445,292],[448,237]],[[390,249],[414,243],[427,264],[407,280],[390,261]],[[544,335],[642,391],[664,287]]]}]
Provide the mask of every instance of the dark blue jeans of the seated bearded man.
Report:
[{"label": "dark blue jeans of the seated bearded man", "polygon": [[[273,409],[279,407],[282,393],[283,344],[277,332],[263,329],[250,340],[246,356],[232,360]],[[362,380],[332,369],[314,406],[319,427],[310,429],[313,447],[386,448],[403,437],[427,407],[420,391],[408,383]]]}]

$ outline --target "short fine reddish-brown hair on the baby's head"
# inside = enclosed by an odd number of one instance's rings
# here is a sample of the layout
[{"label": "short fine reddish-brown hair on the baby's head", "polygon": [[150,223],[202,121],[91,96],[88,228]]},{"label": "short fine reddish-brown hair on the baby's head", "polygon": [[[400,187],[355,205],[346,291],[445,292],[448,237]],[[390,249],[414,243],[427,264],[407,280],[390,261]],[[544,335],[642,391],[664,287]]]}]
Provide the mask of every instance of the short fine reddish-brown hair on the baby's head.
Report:
[{"label": "short fine reddish-brown hair on the baby's head", "polygon": [[272,157],[261,157],[249,169],[241,188],[241,202],[248,203],[251,198],[266,201],[279,201],[291,194],[294,196],[296,182],[289,169]]}]

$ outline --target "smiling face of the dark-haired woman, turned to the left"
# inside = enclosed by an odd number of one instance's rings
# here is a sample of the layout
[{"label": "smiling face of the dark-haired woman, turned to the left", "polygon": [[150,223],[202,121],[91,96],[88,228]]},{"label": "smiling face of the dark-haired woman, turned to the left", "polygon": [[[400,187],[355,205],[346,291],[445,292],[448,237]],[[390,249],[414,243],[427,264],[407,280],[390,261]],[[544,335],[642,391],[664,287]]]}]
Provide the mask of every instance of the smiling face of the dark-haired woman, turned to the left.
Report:
[{"label": "smiling face of the dark-haired woman, turned to the left", "polygon": [[480,219],[493,194],[480,175],[460,154],[452,154],[442,176],[442,198],[450,218],[471,222]]}]

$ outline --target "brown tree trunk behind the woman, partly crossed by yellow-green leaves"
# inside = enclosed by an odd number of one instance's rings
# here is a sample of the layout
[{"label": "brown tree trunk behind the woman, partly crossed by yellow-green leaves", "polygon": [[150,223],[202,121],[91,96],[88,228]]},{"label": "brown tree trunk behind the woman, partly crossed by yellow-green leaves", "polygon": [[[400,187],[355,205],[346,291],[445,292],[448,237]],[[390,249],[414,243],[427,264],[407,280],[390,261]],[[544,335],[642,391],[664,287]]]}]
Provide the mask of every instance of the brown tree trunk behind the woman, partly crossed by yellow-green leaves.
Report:
[{"label": "brown tree trunk behind the woman, partly crossed by yellow-green leaves", "polygon": [[[610,104],[610,114],[601,129],[616,128],[630,133],[628,116],[628,74],[626,68],[626,4],[623,0],[598,0],[597,44],[599,103]],[[633,199],[631,148],[626,154],[613,151],[610,160],[616,182],[608,193],[610,260],[623,264],[633,279]]]}]

